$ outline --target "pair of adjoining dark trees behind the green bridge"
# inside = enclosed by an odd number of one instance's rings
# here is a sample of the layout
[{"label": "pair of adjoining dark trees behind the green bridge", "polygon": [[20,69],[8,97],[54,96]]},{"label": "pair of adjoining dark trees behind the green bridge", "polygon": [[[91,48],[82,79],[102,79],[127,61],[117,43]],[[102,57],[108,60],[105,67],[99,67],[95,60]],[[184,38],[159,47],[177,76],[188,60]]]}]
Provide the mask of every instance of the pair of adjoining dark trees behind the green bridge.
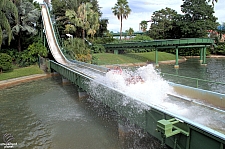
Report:
[{"label": "pair of adjoining dark trees behind the green bridge", "polygon": [[218,26],[217,18],[213,15],[214,8],[208,0],[183,0],[178,14],[171,8],[155,11],[149,30],[154,39],[178,39],[208,37],[209,30]]}]

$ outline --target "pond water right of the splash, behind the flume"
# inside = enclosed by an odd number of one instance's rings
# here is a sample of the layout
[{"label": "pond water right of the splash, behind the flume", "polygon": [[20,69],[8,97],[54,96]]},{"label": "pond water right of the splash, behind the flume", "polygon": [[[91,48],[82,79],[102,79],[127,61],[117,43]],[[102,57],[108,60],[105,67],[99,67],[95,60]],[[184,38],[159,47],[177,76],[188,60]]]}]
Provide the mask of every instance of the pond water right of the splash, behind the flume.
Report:
[{"label": "pond water right of the splash, behind the flume", "polygon": [[[207,65],[201,65],[198,58],[187,59],[186,62],[179,64],[179,69],[174,68],[174,64],[160,65],[159,72],[170,73],[174,75],[199,78],[203,80],[211,80],[215,82],[225,83],[225,58],[207,58]],[[163,76],[166,80],[196,87],[196,80]],[[214,84],[199,81],[198,87],[206,90],[225,93],[225,85]]]}]

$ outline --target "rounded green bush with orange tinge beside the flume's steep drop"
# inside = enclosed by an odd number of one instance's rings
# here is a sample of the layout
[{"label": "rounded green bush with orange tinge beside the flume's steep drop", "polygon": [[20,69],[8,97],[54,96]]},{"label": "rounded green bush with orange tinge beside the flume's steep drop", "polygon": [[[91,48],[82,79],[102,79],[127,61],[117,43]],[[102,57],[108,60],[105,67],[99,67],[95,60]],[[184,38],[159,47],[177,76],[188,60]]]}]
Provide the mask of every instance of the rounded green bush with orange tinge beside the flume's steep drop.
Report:
[{"label": "rounded green bush with orange tinge beside the flume's steep drop", "polygon": [[64,41],[66,53],[72,59],[82,62],[91,62],[90,49],[85,45],[84,41],[79,38],[70,38]]}]

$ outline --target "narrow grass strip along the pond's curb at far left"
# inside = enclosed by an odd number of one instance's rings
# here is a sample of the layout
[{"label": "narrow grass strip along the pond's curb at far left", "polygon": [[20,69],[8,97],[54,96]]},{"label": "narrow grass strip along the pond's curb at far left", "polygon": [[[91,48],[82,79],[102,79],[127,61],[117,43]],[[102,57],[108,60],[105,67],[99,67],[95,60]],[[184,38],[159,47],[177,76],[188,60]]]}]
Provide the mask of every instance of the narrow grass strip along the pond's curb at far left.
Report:
[{"label": "narrow grass strip along the pond's curb at far left", "polygon": [[29,67],[17,68],[10,72],[4,72],[0,74],[0,81],[18,78],[23,76],[29,76],[33,74],[43,74],[44,72],[38,67],[38,65],[32,65]]}]

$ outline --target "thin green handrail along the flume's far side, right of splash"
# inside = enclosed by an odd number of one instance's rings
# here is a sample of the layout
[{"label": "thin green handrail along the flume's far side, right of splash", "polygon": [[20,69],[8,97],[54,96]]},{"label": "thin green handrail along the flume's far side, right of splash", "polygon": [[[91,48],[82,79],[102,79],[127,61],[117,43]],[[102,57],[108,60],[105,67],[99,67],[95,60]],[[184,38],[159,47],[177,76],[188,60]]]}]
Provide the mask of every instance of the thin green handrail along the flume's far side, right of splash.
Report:
[{"label": "thin green handrail along the flume's far side, right of splash", "polygon": [[225,83],[223,83],[223,82],[216,82],[216,81],[211,81],[211,80],[204,80],[204,79],[199,79],[199,78],[192,78],[192,77],[187,77],[187,76],[180,76],[180,75],[175,75],[175,74],[170,74],[170,73],[161,73],[161,74],[162,75],[173,76],[173,77],[184,78],[184,79],[195,80],[196,81],[196,88],[199,87],[199,81],[207,82],[207,83],[220,84],[220,85],[224,85],[225,86]]}]

